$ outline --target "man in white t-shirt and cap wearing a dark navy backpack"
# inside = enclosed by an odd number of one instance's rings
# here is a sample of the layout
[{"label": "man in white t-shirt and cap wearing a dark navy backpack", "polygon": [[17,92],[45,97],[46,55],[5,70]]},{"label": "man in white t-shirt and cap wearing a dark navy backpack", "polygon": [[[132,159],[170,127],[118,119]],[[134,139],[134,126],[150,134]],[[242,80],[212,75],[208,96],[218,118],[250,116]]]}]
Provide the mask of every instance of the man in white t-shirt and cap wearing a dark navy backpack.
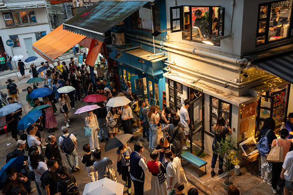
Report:
[{"label": "man in white t-shirt and cap wearing a dark navy backpack", "polygon": [[[76,148],[77,148],[77,142],[76,142],[76,137],[73,135],[73,134],[69,134],[68,133],[68,128],[66,126],[63,126],[61,128],[62,132],[63,132],[63,135],[59,137],[59,145],[60,145],[60,149],[63,153],[65,153],[65,156],[67,158],[67,161],[71,167],[71,170],[72,171],[75,171],[75,169],[79,170],[80,168],[78,167],[78,156],[77,156],[77,153],[76,153]],[[72,142],[67,142],[65,143],[64,139],[67,138],[67,137],[70,137],[70,139],[72,140]],[[70,141],[70,140],[69,140]],[[73,145],[72,145],[73,144]],[[63,147],[64,145],[64,147]],[[73,148],[74,147],[74,148]],[[72,149],[73,152],[71,153],[66,153],[66,151],[64,150],[67,150],[67,149]],[[75,166],[72,162],[72,156],[74,158],[74,163],[75,163]]]}]

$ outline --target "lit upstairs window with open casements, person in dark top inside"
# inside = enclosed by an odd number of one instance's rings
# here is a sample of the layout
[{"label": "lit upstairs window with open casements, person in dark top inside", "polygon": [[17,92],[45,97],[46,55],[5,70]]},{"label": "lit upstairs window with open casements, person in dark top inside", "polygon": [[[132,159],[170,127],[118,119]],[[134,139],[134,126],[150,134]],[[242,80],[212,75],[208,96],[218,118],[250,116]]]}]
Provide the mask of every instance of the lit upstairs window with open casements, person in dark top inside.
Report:
[{"label": "lit upstairs window with open casements, person in dark top inside", "polygon": [[198,42],[222,36],[224,10],[223,7],[212,6],[170,7],[171,32],[182,31],[184,40]]}]

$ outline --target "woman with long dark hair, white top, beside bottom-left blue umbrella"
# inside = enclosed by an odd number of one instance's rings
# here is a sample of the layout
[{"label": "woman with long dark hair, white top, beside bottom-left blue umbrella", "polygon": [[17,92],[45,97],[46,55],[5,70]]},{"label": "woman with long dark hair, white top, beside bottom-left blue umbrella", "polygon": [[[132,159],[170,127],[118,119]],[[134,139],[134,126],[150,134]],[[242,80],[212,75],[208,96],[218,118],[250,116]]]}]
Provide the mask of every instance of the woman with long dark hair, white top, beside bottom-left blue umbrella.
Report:
[{"label": "woman with long dark hair, white top, beside bottom-left blue umbrella", "polygon": [[32,171],[35,173],[35,183],[37,187],[37,194],[38,195],[46,195],[46,190],[41,187],[41,181],[40,178],[42,174],[48,170],[47,164],[45,162],[42,162],[42,160],[39,158],[37,151],[32,151],[29,153],[30,161],[29,166]]}]

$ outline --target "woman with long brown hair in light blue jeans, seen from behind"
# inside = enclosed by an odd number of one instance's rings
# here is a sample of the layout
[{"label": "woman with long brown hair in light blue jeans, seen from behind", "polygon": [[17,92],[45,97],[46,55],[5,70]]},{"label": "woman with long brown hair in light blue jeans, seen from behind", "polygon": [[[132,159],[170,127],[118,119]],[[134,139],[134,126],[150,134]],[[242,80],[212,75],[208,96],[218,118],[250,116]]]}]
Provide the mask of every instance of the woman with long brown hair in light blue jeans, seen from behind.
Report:
[{"label": "woman with long brown hair in light blue jeans, seen from behind", "polygon": [[157,146],[158,139],[158,126],[159,123],[157,119],[157,111],[154,105],[150,106],[149,111],[147,112],[147,119],[149,122],[149,148],[152,150]]}]

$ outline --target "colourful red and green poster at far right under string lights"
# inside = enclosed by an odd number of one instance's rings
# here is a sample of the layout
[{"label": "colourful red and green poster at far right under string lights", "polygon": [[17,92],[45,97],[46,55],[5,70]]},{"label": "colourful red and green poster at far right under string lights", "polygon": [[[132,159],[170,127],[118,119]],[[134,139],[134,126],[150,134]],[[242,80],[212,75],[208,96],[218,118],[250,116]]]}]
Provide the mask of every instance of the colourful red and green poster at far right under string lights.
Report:
[{"label": "colourful red and green poster at far right under string lights", "polygon": [[274,97],[273,119],[275,121],[284,119],[286,88],[278,92],[271,93],[271,96]]}]

